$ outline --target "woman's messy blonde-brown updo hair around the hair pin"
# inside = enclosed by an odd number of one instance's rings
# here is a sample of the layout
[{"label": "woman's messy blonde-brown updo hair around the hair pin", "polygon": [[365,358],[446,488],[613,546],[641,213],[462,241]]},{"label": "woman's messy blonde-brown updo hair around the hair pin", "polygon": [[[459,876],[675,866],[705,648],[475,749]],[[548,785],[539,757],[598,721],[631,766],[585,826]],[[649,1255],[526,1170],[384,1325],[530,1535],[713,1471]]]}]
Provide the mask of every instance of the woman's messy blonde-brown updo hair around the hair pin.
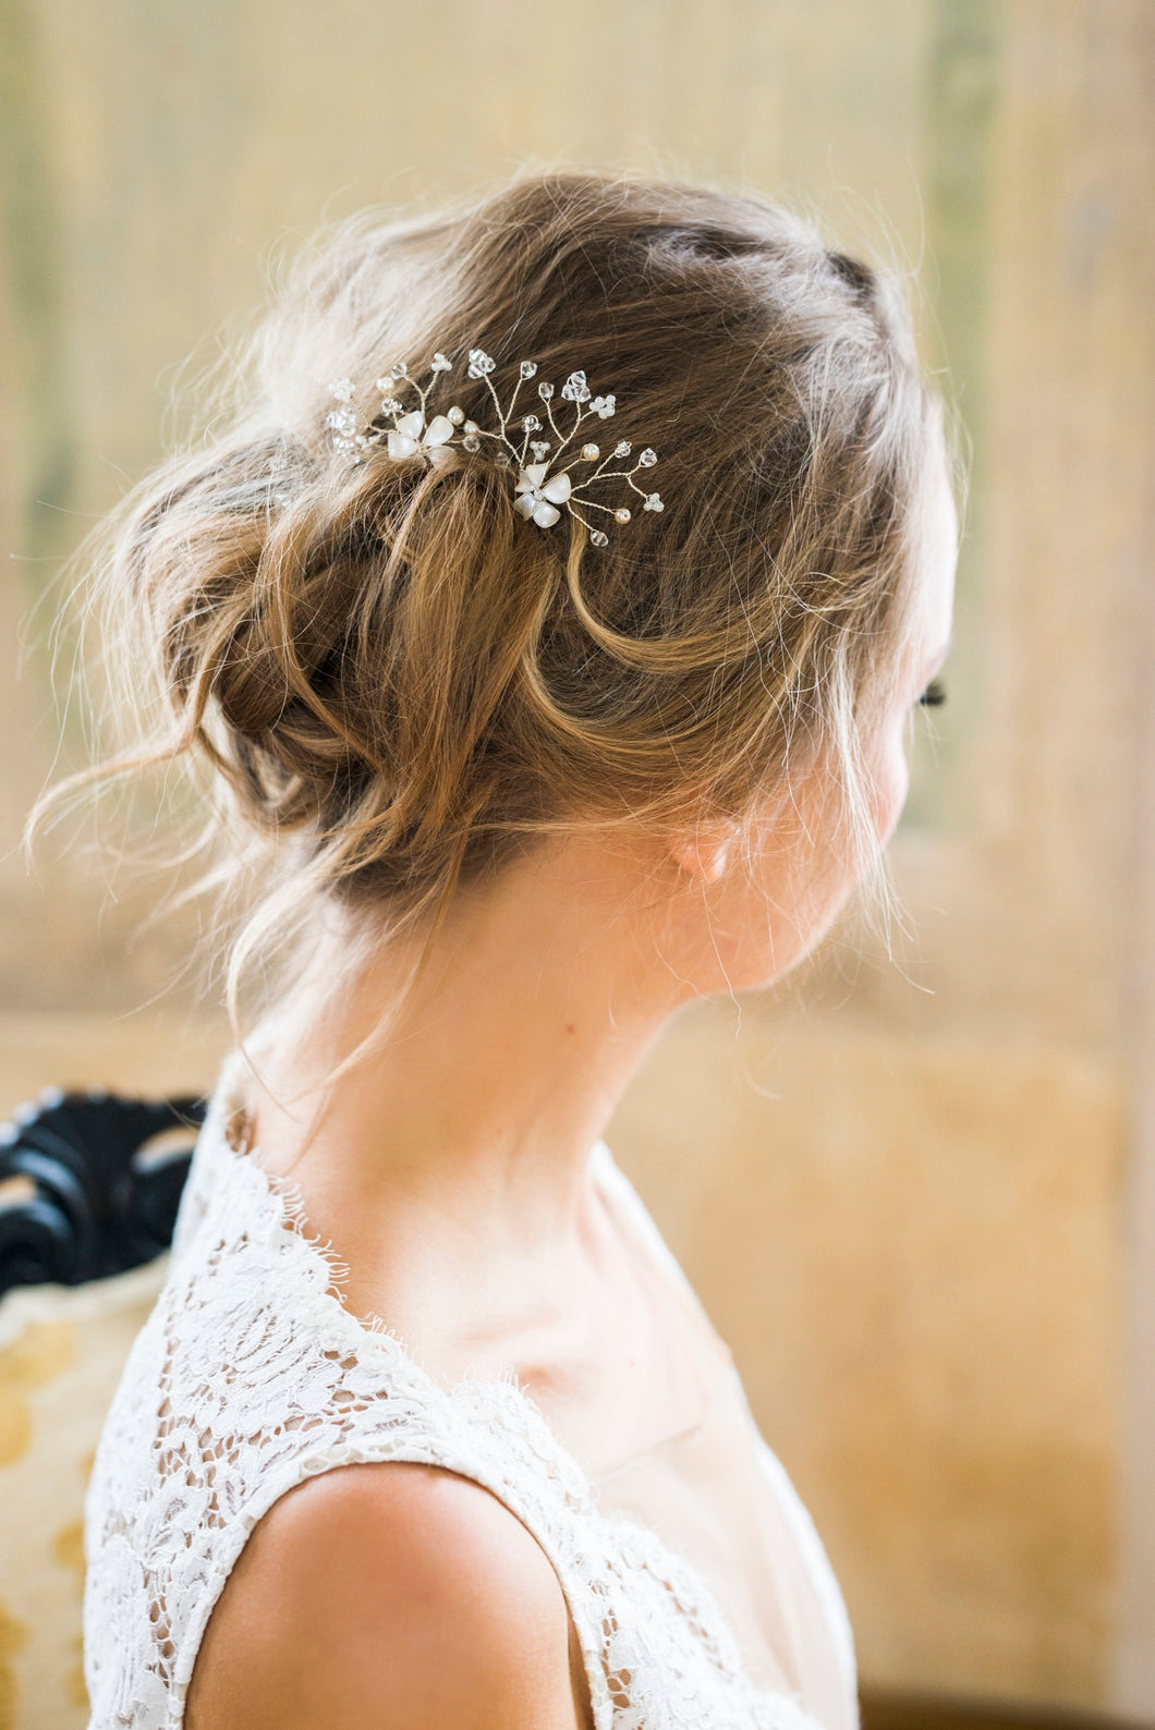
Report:
[{"label": "woman's messy blonde-brown updo hair around the hair pin", "polygon": [[[660,516],[593,548],[517,516],[484,448],[335,457],[334,377],[368,419],[392,362],[474,344],[612,389],[614,436],[660,452]],[[154,692],[111,768],[211,768],[216,837],[268,865],[242,950],[318,901],[418,926],[574,823],[742,818],[814,751],[861,829],[942,438],[890,275],[771,202],[522,178],[323,234],[211,408],[92,562]]]}]

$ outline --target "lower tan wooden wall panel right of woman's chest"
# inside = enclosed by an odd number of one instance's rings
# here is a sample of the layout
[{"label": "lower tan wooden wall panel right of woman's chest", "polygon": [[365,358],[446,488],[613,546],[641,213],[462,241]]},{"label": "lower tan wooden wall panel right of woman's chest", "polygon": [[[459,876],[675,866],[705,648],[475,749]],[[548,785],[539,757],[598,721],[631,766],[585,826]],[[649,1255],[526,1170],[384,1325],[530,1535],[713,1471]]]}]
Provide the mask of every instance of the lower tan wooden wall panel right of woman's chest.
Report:
[{"label": "lower tan wooden wall panel right of woman's chest", "polygon": [[610,1145],[816,1515],[865,1678],[1103,1702],[1120,1076],[700,1010]]}]

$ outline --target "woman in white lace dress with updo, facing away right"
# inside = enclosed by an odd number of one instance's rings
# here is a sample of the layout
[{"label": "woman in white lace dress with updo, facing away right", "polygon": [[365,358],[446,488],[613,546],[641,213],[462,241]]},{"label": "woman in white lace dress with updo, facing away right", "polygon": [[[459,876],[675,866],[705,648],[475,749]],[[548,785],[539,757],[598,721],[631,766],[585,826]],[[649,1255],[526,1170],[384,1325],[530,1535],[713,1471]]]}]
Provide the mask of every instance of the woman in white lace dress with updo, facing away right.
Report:
[{"label": "woman in white lace dress with updo, facing away right", "polygon": [[105,566],[265,996],[97,1457],[92,1723],[851,1725],[600,1135],[878,879],[956,543],[901,298],[769,202],[522,178],[330,234],[244,360]]}]

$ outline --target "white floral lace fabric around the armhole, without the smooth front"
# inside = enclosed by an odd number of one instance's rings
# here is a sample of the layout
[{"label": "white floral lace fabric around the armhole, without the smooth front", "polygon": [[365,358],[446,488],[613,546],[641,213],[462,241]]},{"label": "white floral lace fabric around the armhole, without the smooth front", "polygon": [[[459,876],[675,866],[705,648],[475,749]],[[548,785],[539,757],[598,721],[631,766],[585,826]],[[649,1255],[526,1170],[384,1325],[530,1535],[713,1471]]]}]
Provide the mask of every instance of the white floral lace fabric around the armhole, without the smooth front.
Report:
[{"label": "white floral lace fabric around the armhole, without the smooth front", "polygon": [[534,1535],[569,1604],[595,1730],[816,1730],[795,1697],[745,1675],[697,1571],[598,1509],[522,1389],[446,1387],[344,1308],[292,1189],[225,1140],[225,1104],[218,1088],[88,1490],[90,1730],[176,1730],[261,1515],[318,1472],[382,1460],[458,1472]]}]

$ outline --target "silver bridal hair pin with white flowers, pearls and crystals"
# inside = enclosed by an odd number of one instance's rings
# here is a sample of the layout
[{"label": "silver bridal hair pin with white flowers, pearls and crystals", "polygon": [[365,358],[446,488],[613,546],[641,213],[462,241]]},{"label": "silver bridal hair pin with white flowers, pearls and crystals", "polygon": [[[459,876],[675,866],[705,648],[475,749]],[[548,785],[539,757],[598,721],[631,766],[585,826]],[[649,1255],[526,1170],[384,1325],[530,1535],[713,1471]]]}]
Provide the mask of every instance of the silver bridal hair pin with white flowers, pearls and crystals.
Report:
[{"label": "silver bridal hair pin with white flowers, pearls and crystals", "polygon": [[[602,510],[616,522],[629,522],[633,516],[628,505],[607,505],[600,498],[591,498],[588,488],[595,483],[626,481],[641,500],[643,510],[664,509],[657,493],[635,481],[636,474],[643,474],[657,462],[657,452],[650,450],[648,445],[636,457],[633,445],[624,438],[609,446],[605,453],[602,445],[590,438],[579,446],[576,445],[578,432],[590,420],[612,419],[617,408],[612,393],[593,396],[584,372],[571,372],[560,393],[555,393],[552,384],[539,382],[536,391],[539,412],[520,413],[515,420],[517,398],[522,386],[536,377],[538,362],[522,360],[519,363],[517,382],[505,407],[501,407],[501,398],[491,379],[495,367],[493,355],[486,355],[482,348],[470,348],[465,370],[470,379],[484,379],[498,417],[496,432],[475,420],[467,420],[465,410],[456,407],[444,413],[429,415],[429,393],[439,382],[441,374],[453,370],[453,362],[441,353],[434,355],[429,367],[431,377],[424,386],[410,377],[405,362],[396,362],[384,379],[377,379],[380,413],[363,431],[358,429],[356,412],[351,407],[353,381],[337,379],[330,386],[337,407],[325,422],[332,427],[335,453],[356,465],[365,460],[368,450],[384,445],[394,462],[408,462],[413,457],[429,457],[436,462],[437,453],[448,445],[460,445],[462,450],[474,453],[482,448],[484,439],[493,439],[503,446],[500,460],[517,469],[514,509],[529,522],[536,522],[539,529],[552,529],[565,509],[588,531],[595,547],[607,547],[609,535],[586,521],[584,510]],[[417,394],[417,407],[406,400],[408,393]],[[565,431],[557,422],[557,415],[562,413],[557,407],[558,394],[562,401],[574,405],[572,420],[565,415],[569,420]],[[392,424],[380,426],[380,420]],[[517,432],[520,432],[520,439],[517,439]],[[633,457],[629,467],[610,467],[610,464],[621,464],[628,457]],[[579,464],[591,464],[591,467],[588,472],[578,474]]]}]

